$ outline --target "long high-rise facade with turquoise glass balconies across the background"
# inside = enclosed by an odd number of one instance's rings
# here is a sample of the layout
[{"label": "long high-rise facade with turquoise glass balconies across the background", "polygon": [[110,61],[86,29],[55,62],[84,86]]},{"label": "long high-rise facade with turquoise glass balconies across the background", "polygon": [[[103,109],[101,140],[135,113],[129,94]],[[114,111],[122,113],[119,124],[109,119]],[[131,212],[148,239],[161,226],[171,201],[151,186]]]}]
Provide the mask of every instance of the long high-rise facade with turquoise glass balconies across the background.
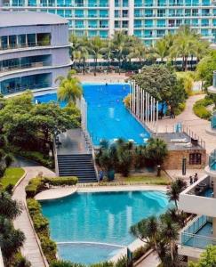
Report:
[{"label": "long high-rise facade with turquoise glass balconies across the background", "polygon": [[189,25],[205,39],[216,40],[216,5],[213,0],[1,0],[4,10],[39,11],[68,20],[77,36],[107,38],[115,30],[140,37],[145,44],[180,25]]}]

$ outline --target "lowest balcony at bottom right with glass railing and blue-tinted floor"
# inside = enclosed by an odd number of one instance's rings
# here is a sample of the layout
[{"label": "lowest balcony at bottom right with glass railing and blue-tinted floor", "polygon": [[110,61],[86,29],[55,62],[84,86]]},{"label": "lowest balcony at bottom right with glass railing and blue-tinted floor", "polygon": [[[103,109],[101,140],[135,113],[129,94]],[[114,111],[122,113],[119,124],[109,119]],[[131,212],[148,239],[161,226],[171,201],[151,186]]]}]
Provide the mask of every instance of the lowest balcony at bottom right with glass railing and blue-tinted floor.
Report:
[{"label": "lowest balcony at bottom right with glass railing and blue-tinted floor", "polygon": [[212,237],[212,218],[196,217],[180,233],[180,253],[198,257],[209,245],[216,245]]}]

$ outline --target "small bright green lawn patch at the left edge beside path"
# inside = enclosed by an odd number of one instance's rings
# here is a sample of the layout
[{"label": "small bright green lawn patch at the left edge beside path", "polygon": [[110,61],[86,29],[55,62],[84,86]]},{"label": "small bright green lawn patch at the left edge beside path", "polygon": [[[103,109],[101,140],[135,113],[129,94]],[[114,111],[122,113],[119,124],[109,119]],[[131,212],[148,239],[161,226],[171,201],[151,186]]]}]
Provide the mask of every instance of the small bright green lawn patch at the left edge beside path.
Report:
[{"label": "small bright green lawn patch at the left edge beside path", "polygon": [[24,173],[22,168],[9,167],[4,172],[4,176],[0,178],[0,183],[3,187],[6,187],[10,183],[15,185]]}]

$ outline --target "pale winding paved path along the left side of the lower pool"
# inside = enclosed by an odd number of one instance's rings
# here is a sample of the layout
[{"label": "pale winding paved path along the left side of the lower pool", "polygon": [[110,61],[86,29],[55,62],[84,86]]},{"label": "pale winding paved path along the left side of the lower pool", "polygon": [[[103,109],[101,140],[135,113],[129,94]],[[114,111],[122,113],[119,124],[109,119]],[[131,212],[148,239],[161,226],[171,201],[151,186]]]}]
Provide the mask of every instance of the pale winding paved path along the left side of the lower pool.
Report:
[{"label": "pale winding paved path along the left side of the lower pool", "polygon": [[[44,176],[55,176],[52,171],[43,166],[28,166],[24,167],[24,169],[27,172],[27,175],[14,190],[12,196],[13,199],[20,201],[23,206],[26,202],[25,187],[28,185],[28,182],[31,178],[36,177],[39,172],[43,172]],[[21,251],[22,254],[27,257],[28,261],[31,263],[31,266],[44,267],[44,259],[36,242],[36,235],[29,221],[27,210],[24,207],[20,216],[14,221],[14,227],[16,229],[20,229],[20,231],[23,231],[26,236],[26,240]]]}]

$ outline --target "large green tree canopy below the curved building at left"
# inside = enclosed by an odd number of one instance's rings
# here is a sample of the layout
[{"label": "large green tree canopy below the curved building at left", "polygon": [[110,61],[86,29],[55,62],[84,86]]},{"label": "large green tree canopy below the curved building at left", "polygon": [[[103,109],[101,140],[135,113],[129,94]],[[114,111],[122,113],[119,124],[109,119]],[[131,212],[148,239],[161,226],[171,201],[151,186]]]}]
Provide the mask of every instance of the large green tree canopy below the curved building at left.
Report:
[{"label": "large green tree canopy below the curved building at left", "polygon": [[75,107],[61,109],[54,102],[34,104],[29,92],[6,100],[0,109],[2,134],[11,144],[26,149],[44,147],[52,142],[53,135],[79,125],[80,113]]}]

